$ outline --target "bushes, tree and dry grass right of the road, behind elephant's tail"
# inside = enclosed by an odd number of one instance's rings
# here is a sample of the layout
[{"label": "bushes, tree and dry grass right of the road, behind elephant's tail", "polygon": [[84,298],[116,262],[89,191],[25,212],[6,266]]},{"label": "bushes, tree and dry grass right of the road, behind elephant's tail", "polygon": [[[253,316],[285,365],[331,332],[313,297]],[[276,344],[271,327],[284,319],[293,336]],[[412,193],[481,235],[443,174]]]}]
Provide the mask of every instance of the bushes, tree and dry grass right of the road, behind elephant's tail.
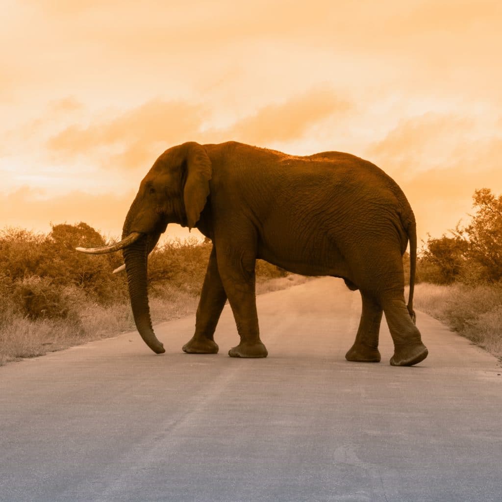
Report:
[{"label": "bushes, tree and dry grass right of the road, behind elephant's tail", "polygon": [[472,198],[467,225],[424,242],[415,306],[502,357],[502,195]]}]

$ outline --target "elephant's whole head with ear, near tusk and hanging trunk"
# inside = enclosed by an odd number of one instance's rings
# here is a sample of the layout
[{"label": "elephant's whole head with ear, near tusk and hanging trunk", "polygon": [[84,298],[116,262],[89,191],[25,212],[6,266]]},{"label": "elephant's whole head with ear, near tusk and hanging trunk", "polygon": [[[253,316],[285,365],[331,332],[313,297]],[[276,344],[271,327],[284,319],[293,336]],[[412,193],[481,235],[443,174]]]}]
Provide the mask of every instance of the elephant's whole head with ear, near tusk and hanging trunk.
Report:
[{"label": "elephant's whole head with ear, near tusk and hanging trunk", "polygon": [[211,161],[197,143],[166,150],[140,184],[122,229],[122,240],[107,247],[77,250],[102,254],[122,249],[136,327],[157,354],[165,352],[152,328],[147,289],[148,255],[168,223],[193,228],[209,195]]}]

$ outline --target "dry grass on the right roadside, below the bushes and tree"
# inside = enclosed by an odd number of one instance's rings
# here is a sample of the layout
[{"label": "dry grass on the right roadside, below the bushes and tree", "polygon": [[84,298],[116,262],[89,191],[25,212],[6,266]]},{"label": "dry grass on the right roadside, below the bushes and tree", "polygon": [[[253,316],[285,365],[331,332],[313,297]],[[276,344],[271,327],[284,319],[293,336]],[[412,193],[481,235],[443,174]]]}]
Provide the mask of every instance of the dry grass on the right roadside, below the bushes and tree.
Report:
[{"label": "dry grass on the right roadside, below the bushes and tree", "polygon": [[421,283],[416,286],[414,305],[493,355],[502,357],[502,285]]}]

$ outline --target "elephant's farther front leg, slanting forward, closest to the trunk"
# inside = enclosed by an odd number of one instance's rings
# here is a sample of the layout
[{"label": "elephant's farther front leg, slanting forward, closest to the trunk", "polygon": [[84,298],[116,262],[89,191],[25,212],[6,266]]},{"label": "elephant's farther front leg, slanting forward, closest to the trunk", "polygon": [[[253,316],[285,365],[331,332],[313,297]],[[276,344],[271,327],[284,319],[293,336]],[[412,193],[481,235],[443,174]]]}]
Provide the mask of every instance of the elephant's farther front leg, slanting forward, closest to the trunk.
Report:
[{"label": "elephant's farther front leg, slanting forward, closest to the trunk", "polygon": [[226,293],[218,272],[216,251],[213,245],[197,307],[195,334],[189,342],[183,345],[184,352],[188,354],[216,354],[218,352],[218,345],[213,336],[225,302]]}]

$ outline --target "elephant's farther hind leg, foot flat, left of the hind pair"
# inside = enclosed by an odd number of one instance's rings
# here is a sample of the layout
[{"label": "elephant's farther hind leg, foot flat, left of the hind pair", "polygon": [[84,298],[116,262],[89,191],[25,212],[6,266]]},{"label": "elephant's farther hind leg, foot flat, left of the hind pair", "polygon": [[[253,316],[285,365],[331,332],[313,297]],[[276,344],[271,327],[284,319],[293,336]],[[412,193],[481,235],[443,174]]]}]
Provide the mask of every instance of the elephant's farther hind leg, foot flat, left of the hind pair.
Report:
[{"label": "elephant's farther hind leg, foot flat, left of the hind pair", "polygon": [[371,296],[361,291],[362,312],[359,328],[352,347],[345,354],[347,361],[380,362],[378,349],[382,307]]}]

